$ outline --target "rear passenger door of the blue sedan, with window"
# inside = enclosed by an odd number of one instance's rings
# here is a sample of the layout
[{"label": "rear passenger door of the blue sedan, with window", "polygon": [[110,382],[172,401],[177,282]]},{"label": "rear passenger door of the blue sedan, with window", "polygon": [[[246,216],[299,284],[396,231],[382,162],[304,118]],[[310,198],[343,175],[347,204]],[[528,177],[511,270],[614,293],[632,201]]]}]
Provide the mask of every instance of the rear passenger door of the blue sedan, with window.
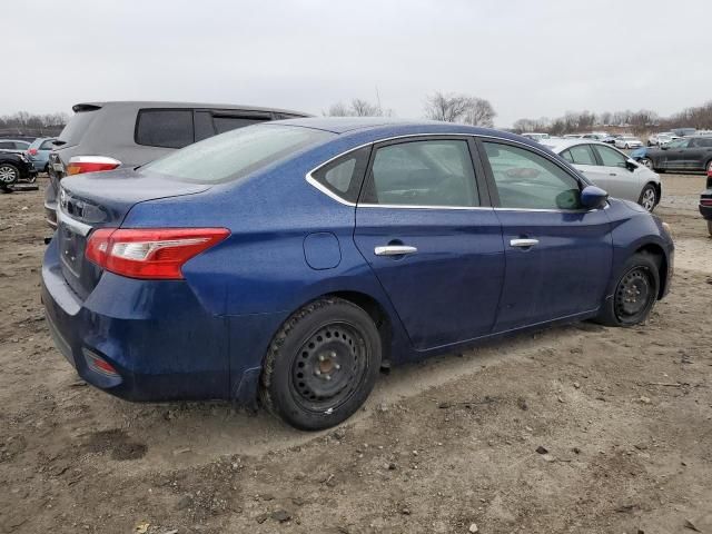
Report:
[{"label": "rear passenger door of the blue sedan, with window", "polygon": [[416,349],[490,334],[504,277],[498,219],[466,138],[374,147],[355,243]]}]

